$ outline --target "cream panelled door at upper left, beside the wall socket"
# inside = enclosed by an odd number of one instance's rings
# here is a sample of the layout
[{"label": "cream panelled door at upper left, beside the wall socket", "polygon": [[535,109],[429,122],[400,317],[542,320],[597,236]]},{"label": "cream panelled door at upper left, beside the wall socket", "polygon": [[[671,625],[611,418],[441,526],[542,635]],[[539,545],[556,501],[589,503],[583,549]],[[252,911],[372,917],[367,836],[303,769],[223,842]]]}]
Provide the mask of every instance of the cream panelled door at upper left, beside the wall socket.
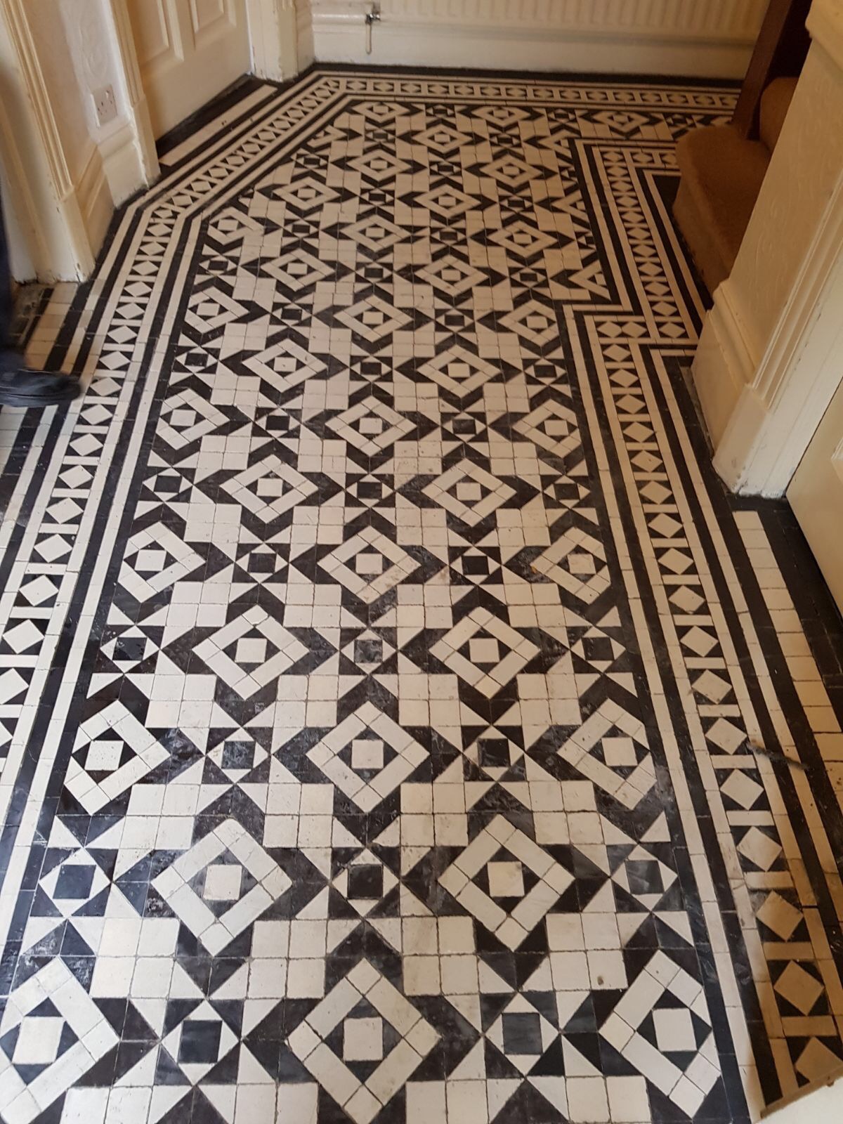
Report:
[{"label": "cream panelled door at upper left, beside the wall socket", "polygon": [[156,137],[250,70],[246,0],[128,0]]}]

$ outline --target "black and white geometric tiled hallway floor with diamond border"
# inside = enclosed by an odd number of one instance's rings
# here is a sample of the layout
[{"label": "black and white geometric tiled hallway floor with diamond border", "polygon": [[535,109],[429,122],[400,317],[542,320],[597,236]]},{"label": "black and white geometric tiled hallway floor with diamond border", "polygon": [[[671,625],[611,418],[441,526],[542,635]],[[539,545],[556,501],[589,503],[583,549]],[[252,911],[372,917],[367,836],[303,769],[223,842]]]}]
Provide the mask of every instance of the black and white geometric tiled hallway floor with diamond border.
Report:
[{"label": "black and white geometric tiled hallway floor with diamond border", "polygon": [[843,1058],[843,673],[683,382],[734,91],[248,89],[3,417],[0,1117],[756,1117]]}]

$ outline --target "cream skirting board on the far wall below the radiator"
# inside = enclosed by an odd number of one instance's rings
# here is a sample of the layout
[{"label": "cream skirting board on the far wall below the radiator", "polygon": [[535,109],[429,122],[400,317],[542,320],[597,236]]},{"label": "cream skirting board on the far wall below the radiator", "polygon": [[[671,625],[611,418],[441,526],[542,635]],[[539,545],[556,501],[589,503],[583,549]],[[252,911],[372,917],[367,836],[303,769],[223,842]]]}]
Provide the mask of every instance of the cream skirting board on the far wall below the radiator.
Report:
[{"label": "cream skirting board on the far wall below the radiator", "polygon": [[680,74],[687,78],[743,78],[752,52],[745,37],[631,33],[622,28],[581,30],[536,24],[435,22],[382,17],[365,53],[360,12],[312,15],[318,62],[405,66],[465,66],[536,72]]}]

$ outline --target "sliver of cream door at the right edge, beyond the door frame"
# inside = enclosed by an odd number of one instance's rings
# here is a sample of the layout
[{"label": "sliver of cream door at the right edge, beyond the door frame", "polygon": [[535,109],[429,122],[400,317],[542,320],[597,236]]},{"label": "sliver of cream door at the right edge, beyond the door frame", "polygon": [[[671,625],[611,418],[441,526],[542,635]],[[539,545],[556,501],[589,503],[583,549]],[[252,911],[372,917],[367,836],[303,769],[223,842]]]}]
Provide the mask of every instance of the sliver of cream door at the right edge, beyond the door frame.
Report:
[{"label": "sliver of cream door at the right edge, beyond the door frame", "polygon": [[[843,356],[837,362],[843,368]],[[843,384],[799,462],[788,500],[843,611]]]}]

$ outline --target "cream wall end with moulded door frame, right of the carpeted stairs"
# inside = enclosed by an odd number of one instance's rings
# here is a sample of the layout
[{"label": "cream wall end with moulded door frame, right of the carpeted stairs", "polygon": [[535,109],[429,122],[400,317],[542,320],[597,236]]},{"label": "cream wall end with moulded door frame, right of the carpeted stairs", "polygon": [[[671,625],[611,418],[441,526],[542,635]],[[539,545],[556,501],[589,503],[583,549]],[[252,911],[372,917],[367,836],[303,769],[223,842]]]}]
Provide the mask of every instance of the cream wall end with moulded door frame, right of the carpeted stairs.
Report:
[{"label": "cream wall end with moulded door frame, right of the carpeted stairs", "polygon": [[843,0],[814,0],[812,47],[694,382],[733,491],[780,496],[843,369]]}]

